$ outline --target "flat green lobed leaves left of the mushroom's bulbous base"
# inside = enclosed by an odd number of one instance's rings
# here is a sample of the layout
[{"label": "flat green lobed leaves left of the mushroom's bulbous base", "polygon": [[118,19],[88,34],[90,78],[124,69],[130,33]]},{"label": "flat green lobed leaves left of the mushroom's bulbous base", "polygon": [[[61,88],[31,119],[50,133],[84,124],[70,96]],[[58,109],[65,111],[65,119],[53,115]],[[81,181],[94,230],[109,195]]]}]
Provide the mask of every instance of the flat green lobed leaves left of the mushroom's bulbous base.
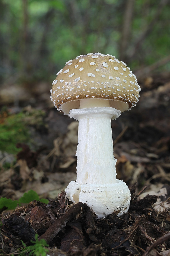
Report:
[{"label": "flat green lobed leaves left of the mushroom's bulbous base", "polygon": [[19,200],[12,200],[11,198],[8,199],[6,197],[1,197],[0,209],[2,209],[5,206],[7,207],[7,210],[12,210],[12,209],[15,209],[17,205],[28,204],[33,200],[37,200],[42,203],[48,204],[48,199],[45,199],[45,198],[40,199],[39,195],[31,189],[27,193],[24,193],[24,195],[20,197]]}]

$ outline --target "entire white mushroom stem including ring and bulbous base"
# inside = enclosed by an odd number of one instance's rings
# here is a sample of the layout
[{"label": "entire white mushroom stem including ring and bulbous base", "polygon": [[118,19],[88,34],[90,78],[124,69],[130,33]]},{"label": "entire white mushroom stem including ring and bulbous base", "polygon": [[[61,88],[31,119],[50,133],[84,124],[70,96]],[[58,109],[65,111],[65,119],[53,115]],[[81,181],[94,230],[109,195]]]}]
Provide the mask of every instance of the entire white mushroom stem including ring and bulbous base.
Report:
[{"label": "entire white mushroom stem including ring and bulbous base", "polygon": [[[80,107],[87,106],[86,103],[82,102]],[[66,193],[72,202],[87,203],[98,218],[112,212],[119,212],[120,216],[129,208],[130,192],[123,181],[116,180],[111,119],[119,117],[121,111],[98,107],[98,101],[93,103],[90,108],[70,110],[70,118],[79,121],[78,162],[77,180],[69,183]]]}]

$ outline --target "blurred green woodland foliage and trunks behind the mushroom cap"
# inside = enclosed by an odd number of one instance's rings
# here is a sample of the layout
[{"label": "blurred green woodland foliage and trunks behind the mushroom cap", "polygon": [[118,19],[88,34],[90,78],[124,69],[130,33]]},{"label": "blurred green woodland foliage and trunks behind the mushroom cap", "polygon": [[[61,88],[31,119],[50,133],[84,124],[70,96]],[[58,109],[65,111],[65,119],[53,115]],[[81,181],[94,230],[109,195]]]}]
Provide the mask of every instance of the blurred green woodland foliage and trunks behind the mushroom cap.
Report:
[{"label": "blurred green woodland foliage and trunks behind the mushroom cap", "polygon": [[52,81],[88,52],[146,67],[170,54],[169,13],[169,0],[1,0],[1,79]]}]

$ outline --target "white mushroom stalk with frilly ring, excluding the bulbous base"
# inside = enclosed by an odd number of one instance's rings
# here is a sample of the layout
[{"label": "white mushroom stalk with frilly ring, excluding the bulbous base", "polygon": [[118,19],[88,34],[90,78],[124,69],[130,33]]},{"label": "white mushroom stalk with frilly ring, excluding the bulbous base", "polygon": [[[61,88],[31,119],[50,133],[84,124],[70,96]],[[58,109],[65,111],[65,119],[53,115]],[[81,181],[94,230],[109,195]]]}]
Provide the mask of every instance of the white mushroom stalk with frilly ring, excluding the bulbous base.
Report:
[{"label": "white mushroom stalk with frilly ring, excluding the bulbous base", "polygon": [[77,180],[84,184],[116,182],[116,160],[113,155],[111,118],[121,111],[115,108],[84,108],[70,110],[78,119]]}]

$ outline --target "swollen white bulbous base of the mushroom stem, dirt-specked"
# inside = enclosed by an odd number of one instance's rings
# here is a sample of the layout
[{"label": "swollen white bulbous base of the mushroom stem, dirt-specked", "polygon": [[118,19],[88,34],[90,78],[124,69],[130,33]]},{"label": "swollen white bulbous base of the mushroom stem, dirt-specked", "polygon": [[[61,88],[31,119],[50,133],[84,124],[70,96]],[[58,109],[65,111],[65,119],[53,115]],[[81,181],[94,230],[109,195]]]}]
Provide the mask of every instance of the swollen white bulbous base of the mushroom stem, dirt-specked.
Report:
[{"label": "swollen white bulbous base of the mushroom stem, dirt-specked", "polygon": [[128,212],[130,205],[130,190],[122,180],[103,185],[80,185],[71,181],[66,188],[66,194],[74,203],[88,204],[98,219],[105,218],[112,212],[116,212],[119,217]]}]

